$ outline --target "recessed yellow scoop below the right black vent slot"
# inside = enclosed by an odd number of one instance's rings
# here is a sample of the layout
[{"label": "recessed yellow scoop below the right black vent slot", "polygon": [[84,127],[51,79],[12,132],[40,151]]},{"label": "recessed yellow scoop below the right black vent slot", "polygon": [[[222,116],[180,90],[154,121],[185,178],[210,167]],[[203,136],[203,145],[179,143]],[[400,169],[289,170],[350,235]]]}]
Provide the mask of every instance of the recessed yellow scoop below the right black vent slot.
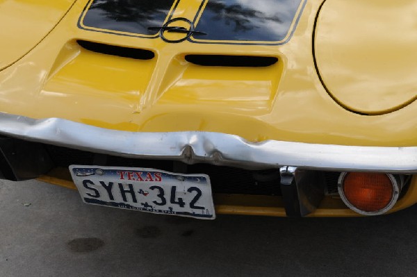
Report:
[{"label": "recessed yellow scoop below the right black vent slot", "polygon": [[268,67],[213,67],[195,65],[179,56],[167,68],[159,103],[269,110],[282,70],[281,60]]}]

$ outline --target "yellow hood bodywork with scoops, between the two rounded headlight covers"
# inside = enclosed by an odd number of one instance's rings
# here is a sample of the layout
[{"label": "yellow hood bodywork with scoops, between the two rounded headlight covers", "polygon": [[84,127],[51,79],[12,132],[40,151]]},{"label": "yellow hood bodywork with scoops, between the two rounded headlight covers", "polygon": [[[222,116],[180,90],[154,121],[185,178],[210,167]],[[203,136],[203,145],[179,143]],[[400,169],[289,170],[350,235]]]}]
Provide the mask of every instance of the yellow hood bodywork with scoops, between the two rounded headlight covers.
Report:
[{"label": "yellow hood bodywork with scoops, between the two rounded headlight covers", "polygon": [[[0,71],[1,112],[121,131],[198,130],[256,142],[416,146],[417,102],[389,114],[357,115],[339,106],[320,83],[312,30],[321,0],[306,1],[291,40],[275,46],[167,43],[88,31],[76,24],[87,3],[76,1],[48,37]],[[138,61],[90,53],[77,48],[76,40],[147,49],[156,57]],[[279,64],[209,69],[187,65],[185,54],[272,56]]]}]

